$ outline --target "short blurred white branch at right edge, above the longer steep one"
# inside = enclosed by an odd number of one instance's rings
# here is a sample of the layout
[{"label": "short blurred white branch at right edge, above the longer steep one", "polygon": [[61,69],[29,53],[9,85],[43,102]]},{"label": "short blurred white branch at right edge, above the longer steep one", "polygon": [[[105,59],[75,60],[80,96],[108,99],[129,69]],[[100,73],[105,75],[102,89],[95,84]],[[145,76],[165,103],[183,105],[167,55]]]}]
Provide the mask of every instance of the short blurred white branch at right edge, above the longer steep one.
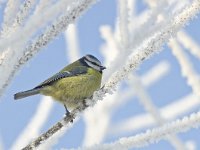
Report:
[{"label": "short blurred white branch at right edge, above the longer steep one", "polygon": [[178,32],[177,40],[191,53],[200,59],[200,46],[184,30]]}]

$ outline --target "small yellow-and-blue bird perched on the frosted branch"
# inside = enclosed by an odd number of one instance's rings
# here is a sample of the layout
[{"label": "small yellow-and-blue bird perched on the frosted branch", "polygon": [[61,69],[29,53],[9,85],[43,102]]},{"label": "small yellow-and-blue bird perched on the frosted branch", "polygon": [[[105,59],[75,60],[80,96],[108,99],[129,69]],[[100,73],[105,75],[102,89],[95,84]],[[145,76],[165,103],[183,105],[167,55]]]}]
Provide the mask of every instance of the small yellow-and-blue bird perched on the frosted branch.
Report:
[{"label": "small yellow-and-blue bird perched on the frosted branch", "polygon": [[104,69],[106,67],[95,56],[87,54],[33,89],[14,94],[14,99],[36,94],[51,96],[64,105],[66,115],[69,115],[80,102],[91,98],[94,91],[100,89]]}]

